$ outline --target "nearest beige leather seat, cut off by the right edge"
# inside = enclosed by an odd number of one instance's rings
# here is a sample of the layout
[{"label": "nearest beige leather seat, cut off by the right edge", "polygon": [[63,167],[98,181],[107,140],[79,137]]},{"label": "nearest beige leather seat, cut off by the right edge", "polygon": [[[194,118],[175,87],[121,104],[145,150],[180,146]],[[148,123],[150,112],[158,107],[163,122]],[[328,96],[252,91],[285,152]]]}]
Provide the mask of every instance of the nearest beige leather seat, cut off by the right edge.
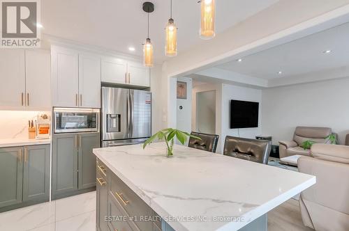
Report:
[{"label": "nearest beige leather seat, cut off by the right edge", "polygon": [[311,157],[300,157],[301,173],[316,176],[316,184],[301,193],[304,225],[315,230],[349,230],[349,147],[314,144]]}]

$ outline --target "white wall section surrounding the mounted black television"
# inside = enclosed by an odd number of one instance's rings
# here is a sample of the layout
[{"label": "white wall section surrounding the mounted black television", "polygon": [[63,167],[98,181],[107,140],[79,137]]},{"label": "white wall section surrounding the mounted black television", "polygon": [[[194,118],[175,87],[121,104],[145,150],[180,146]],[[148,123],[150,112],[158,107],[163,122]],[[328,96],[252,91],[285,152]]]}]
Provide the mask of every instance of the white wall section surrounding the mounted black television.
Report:
[{"label": "white wall section surrounding the mounted black television", "polygon": [[[230,129],[230,100],[244,100],[259,102],[259,118],[257,128]],[[242,86],[232,86],[224,84],[222,86],[222,132],[221,145],[223,147],[225,136],[239,136],[244,138],[255,138],[260,135],[261,129],[261,112],[262,112],[262,90],[255,88],[246,88]],[[222,149],[223,150],[223,149]]]}]

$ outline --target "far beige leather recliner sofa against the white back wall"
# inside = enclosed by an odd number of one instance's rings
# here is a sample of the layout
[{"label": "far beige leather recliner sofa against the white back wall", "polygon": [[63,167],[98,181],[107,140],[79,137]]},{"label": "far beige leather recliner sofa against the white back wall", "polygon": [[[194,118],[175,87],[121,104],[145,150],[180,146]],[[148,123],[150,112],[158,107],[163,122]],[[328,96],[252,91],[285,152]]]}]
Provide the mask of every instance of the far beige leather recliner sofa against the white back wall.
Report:
[{"label": "far beige leather recliner sofa against the white back wall", "polygon": [[309,156],[310,150],[304,150],[302,143],[309,140],[325,143],[329,134],[332,134],[332,129],[329,127],[296,127],[292,141],[279,141],[280,158],[295,154]]}]

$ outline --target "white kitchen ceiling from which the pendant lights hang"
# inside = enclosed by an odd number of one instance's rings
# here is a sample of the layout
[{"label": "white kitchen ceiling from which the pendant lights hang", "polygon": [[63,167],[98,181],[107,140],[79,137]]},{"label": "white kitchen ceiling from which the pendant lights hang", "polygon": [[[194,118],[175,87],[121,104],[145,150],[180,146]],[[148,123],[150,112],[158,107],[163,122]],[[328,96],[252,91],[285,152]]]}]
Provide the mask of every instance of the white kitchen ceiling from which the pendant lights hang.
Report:
[{"label": "white kitchen ceiling from which the pendant lights hang", "polygon": [[[216,33],[225,31],[279,0],[216,1]],[[45,0],[41,1],[43,33],[142,55],[142,42],[147,37],[147,14],[140,0]],[[150,38],[156,61],[165,60],[165,24],[170,16],[170,0],[153,0],[150,15]],[[178,51],[205,41],[199,38],[200,4],[197,0],[173,0],[173,18],[177,23]],[[135,51],[128,51],[128,47]]]}]

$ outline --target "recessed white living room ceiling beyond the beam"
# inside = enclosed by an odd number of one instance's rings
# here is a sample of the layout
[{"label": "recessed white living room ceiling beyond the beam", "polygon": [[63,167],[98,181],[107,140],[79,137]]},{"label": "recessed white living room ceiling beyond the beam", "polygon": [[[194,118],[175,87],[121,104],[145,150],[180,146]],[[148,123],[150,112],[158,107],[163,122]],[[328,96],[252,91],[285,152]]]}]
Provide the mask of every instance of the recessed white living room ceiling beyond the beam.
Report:
[{"label": "recessed white living room ceiling beyond the beam", "polygon": [[[348,66],[348,41],[349,23],[216,67],[268,80],[295,77]],[[324,54],[326,50],[332,52]]]}]

